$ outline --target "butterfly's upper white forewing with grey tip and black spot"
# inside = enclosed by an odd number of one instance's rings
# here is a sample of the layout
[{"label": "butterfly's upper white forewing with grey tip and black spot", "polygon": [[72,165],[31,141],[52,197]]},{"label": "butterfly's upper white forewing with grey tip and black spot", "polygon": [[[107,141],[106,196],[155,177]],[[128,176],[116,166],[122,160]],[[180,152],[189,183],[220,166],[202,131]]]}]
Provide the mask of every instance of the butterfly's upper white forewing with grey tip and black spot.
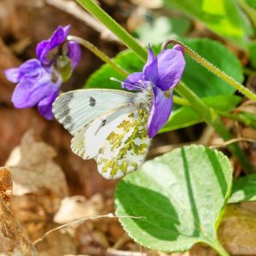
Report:
[{"label": "butterfly's upper white forewing with grey tip and black spot", "polygon": [[134,98],[134,93],[122,90],[71,90],[55,100],[53,113],[67,131],[75,135],[103,113],[131,106]]}]

